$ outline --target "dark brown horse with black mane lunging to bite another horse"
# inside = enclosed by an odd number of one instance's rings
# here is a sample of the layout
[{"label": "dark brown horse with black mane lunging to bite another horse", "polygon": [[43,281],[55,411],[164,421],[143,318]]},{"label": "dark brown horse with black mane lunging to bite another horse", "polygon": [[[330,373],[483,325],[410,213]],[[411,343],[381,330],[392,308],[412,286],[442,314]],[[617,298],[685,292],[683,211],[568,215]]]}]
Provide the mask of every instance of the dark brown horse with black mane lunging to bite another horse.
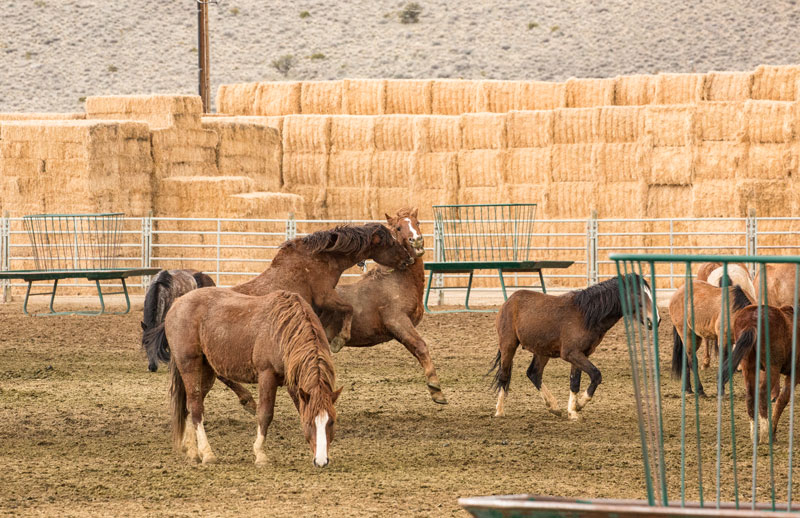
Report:
[{"label": "dark brown horse with black mane lunging to bite another horse", "polygon": [[[342,330],[331,340],[331,345],[344,344],[350,339],[353,306],[336,293],[336,284],[345,270],[367,259],[398,269],[414,264],[414,257],[384,225],[345,225],[286,241],[269,268],[231,290],[254,296],[286,290],[299,294],[317,313],[323,309],[339,311],[344,315]],[[168,359],[169,345],[162,329],[163,324],[156,331],[159,335],[156,347],[159,359]],[[217,379],[236,393],[245,409],[255,412],[249,390],[222,376]]]}]

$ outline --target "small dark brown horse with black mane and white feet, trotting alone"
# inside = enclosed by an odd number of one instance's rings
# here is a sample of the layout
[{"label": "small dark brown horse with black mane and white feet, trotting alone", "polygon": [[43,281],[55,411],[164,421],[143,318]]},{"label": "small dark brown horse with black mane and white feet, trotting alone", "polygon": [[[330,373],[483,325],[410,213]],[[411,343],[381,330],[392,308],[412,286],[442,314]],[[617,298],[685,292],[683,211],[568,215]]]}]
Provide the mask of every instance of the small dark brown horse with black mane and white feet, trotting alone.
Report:
[{"label": "small dark brown horse with black mane and white feet, trotting alone", "polygon": [[[661,321],[655,308],[653,295],[647,282],[637,274],[627,274],[627,283],[641,286],[637,301],[642,324],[653,328],[652,312],[656,312],[656,326]],[[567,414],[577,420],[580,412],[594,397],[602,381],[600,370],[589,361],[603,337],[622,318],[619,279],[614,277],[583,290],[554,296],[530,290],[511,295],[500,308],[495,322],[499,350],[489,372],[497,369],[494,388],[498,391],[495,417],[505,415],[505,400],[511,382],[514,354],[522,344],[533,353],[527,376],[539,390],[547,409],[560,416],[561,410],[553,394],[542,383],[542,373],[550,358],[572,364],[570,395]],[[589,375],[591,383],[580,397],[581,374]]]}]

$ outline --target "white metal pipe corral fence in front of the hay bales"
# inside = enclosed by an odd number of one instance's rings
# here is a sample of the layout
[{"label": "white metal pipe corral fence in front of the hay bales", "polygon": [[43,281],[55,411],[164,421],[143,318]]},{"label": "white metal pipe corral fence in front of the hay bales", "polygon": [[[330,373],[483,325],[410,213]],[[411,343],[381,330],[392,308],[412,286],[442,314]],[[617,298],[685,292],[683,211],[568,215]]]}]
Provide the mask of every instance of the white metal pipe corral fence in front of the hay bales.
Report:
[{"label": "white metal pipe corral fence in front of the hay bales", "polygon": [[[220,286],[233,286],[269,266],[286,239],[344,223],[362,220],[123,218],[119,267],[196,268],[209,273]],[[421,222],[425,244],[437,258],[433,221]],[[545,271],[553,290],[584,287],[616,274],[612,253],[665,254],[797,254],[800,218],[669,218],[540,220],[533,226],[531,256],[537,260],[572,260],[566,270]],[[430,259],[429,259],[430,260]],[[0,218],[0,271],[34,268],[33,252],[23,218]],[[360,273],[345,273],[348,282]],[[659,287],[683,283],[673,265],[657,268]],[[513,284],[533,284],[533,274],[513,274]],[[474,291],[499,290],[497,275],[475,275]],[[466,274],[437,274],[434,286],[464,284]],[[142,278],[139,289],[146,287]],[[113,285],[113,284],[112,284]],[[4,281],[3,300],[22,283]],[[77,281],[64,288],[91,287]],[[135,286],[132,286],[134,292]],[[67,291],[68,293],[69,291]],[[442,293],[442,292],[440,292]],[[440,299],[441,300],[441,299]]]}]

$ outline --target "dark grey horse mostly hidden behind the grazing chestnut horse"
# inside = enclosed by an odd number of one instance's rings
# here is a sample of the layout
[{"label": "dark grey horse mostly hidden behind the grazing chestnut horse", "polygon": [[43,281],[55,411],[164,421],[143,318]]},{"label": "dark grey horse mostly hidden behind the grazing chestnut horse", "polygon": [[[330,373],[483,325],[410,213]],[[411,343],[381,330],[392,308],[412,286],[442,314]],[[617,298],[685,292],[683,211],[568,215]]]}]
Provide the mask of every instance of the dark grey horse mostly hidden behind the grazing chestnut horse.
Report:
[{"label": "dark grey horse mostly hidden behind the grazing chestnut horse", "polygon": [[154,329],[164,322],[172,303],[186,293],[196,288],[216,286],[214,280],[203,272],[192,269],[184,270],[161,270],[156,275],[147,294],[144,297],[144,317],[142,324],[142,348],[147,352],[148,365],[150,372],[158,370],[158,362],[169,361],[169,350],[166,357],[159,357],[159,351],[155,347],[153,338],[156,332]]}]

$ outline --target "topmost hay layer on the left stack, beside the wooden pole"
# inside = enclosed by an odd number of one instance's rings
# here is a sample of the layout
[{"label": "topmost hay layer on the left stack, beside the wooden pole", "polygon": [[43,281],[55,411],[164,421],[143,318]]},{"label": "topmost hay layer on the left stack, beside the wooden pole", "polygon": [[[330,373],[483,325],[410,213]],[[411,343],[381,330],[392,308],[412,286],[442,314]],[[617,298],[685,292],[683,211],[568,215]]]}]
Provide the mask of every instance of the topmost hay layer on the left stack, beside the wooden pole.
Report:
[{"label": "topmost hay layer on the left stack, beside the wooden pole", "polygon": [[203,103],[197,95],[107,95],[86,99],[87,119],[146,121],[152,129],[199,128]]}]

